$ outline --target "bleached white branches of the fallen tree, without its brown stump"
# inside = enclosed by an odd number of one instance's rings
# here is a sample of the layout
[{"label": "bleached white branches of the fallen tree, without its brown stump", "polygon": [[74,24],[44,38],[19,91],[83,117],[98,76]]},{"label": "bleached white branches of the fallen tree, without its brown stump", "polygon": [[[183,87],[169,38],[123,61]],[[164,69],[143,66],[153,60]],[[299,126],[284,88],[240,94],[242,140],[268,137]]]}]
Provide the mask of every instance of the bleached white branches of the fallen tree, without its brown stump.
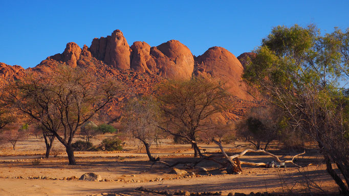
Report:
[{"label": "bleached white branches of the fallen tree, without its brown stump", "polygon": [[[269,155],[269,156],[271,156],[271,157],[274,157],[274,159],[275,159],[277,162],[279,162],[279,163],[291,163],[291,164],[293,164],[293,165],[295,165],[295,166],[297,166],[297,167],[301,167],[301,166],[297,165],[296,163],[294,163],[293,160],[294,160],[296,157],[300,156],[300,155],[306,154],[306,151],[304,151],[304,152],[302,152],[302,153],[300,153],[300,154],[297,154],[297,155],[293,156],[291,160],[280,160],[278,156],[276,156],[276,155],[274,155],[274,154],[272,154],[272,153],[269,153],[269,152],[267,152],[267,151],[265,151],[265,150],[246,149],[246,150],[244,150],[243,152],[241,152],[241,153],[239,153],[239,154],[235,154],[235,155],[232,155],[232,156],[228,156],[227,153],[224,151],[221,142],[216,141],[215,139],[213,139],[212,141],[220,147],[220,149],[221,149],[221,151],[222,151],[222,154],[228,159],[228,161],[229,161],[230,163],[233,163],[233,159],[238,158],[238,157],[242,157],[242,156],[244,156],[244,155],[245,155],[246,153],[248,153],[248,152],[252,152],[252,153],[264,153],[264,154],[267,154],[267,155]],[[266,165],[266,163],[254,163],[254,162],[247,162],[247,161],[240,161],[240,162],[241,162],[241,164],[246,164],[246,165],[256,165],[256,166]]]}]

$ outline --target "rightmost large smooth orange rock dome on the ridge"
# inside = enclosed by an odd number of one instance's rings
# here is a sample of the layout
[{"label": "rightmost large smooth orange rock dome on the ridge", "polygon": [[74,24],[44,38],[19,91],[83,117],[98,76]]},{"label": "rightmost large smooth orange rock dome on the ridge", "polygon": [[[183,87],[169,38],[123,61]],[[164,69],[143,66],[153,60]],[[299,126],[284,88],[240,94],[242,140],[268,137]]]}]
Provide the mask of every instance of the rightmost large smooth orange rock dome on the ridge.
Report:
[{"label": "rightmost large smooth orange rock dome on the ridge", "polygon": [[223,47],[211,47],[196,58],[194,75],[226,83],[228,91],[239,99],[252,100],[242,81],[244,68],[237,58]]}]

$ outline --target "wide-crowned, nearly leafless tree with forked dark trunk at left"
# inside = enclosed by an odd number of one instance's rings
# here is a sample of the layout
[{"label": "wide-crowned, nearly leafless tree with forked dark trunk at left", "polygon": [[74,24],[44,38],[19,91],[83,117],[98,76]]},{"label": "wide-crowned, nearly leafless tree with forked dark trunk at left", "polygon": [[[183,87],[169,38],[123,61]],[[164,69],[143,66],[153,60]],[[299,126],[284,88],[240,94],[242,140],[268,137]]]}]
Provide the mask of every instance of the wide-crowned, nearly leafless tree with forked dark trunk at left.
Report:
[{"label": "wide-crowned, nearly leafless tree with forked dark trunk at left", "polygon": [[122,92],[113,80],[96,81],[82,69],[61,67],[50,76],[9,84],[3,100],[35,119],[65,147],[75,165],[72,140],[78,128]]}]

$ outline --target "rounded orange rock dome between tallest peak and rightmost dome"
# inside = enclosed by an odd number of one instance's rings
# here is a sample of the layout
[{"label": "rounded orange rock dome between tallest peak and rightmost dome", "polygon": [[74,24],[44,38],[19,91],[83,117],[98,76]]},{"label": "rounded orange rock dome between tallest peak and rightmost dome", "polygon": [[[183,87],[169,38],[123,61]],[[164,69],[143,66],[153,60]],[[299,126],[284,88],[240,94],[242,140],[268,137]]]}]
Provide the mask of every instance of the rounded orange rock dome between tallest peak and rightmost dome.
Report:
[{"label": "rounded orange rock dome between tallest peak and rightmost dome", "polygon": [[156,72],[166,79],[190,79],[194,58],[187,46],[177,40],[170,40],[152,47],[150,55],[157,63]]}]

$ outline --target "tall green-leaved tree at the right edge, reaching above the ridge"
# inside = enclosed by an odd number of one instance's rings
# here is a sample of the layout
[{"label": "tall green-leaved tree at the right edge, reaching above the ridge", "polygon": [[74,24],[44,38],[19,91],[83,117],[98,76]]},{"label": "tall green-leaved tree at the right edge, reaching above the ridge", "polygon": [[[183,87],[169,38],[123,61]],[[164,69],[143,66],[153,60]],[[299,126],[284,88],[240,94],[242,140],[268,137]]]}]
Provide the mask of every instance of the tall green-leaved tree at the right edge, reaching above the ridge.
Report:
[{"label": "tall green-leaved tree at the right edge, reaching above the ridge", "polygon": [[349,30],[320,36],[314,26],[278,26],[255,52],[244,78],[269,97],[293,130],[318,143],[326,170],[349,194],[349,101],[339,83],[349,78]]}]

